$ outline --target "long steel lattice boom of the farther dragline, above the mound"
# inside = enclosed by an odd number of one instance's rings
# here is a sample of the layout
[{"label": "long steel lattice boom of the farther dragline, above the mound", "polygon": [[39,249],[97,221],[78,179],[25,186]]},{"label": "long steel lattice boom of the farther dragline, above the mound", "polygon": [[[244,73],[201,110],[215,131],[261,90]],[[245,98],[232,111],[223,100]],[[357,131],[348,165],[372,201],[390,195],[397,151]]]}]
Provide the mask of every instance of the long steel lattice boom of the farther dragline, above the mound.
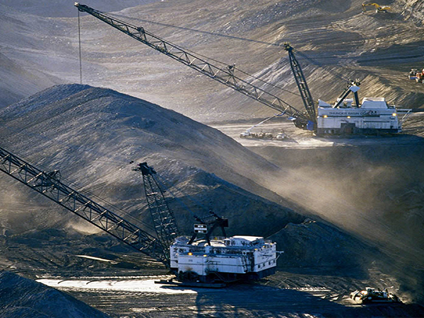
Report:
[{"label": "long steel lattice boom of the farther dragline, above the mound", "polygon": [[307,114],[300,112],[295,107],[288,105],[288,103],[281,98],[278,98],[276,95],[268,93],[266,90],[254,86],[245,79],[235,76],[236,69],[234,66],[216,66],[211,62],[206,61],[204,57],[194,54],[193,52],[188,52],[186,49],[182,49],[167,40],[163,40],[153,33],[146,31],[142,27],[118,20],[117,18],[113,18],[112,16],[97,11],[94,8],[90,8],[84,4],[78,4],[78,2],[75,3],[75,6],[79,11],[95,16],[95,18],[102,20],[126,35],[143,42],[145,45],[152,47],[158,52],[161,52],[244,95],[247,95],[249,98],[253,98],[258,102],[261,102],[263,105],[295,118],[295,125],[300,128],[305,128],[307,122],[311,120],[309,114],[310,110],[308,110]]}]

